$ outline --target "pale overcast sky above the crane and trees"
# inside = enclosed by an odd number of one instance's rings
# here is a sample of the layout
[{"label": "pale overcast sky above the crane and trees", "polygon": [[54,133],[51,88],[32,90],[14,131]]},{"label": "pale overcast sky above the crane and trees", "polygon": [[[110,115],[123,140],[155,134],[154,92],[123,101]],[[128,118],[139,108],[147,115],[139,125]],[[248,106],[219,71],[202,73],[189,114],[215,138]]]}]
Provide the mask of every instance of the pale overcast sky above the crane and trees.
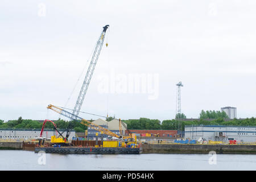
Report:
[{"label": "pale overcast sky above the crane and trees", "polygon": [[224,106],[237,107],[238,118],[256,117],[255,9],[255,1],[236,0],[2,0],[0,119],[59,118],[49,104],[73,109],[106,24],[109,46],[81,111],[172,119],[182,81],[187,118]]}]

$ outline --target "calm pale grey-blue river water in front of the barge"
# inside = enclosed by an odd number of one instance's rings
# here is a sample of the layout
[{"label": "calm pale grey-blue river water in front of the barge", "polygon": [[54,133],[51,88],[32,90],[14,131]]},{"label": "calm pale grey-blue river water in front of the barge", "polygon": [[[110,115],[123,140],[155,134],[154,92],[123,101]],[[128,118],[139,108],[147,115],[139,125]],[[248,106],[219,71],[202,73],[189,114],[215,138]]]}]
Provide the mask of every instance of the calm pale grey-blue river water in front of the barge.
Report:
[{"label": "calm pale grey-blue river water in front of the barge", "polygon": [[[79,155],[0,151],[0,170],[255,170],[256,155],[207,154]],[[39,160],[39,163],[38,163]]]}]

